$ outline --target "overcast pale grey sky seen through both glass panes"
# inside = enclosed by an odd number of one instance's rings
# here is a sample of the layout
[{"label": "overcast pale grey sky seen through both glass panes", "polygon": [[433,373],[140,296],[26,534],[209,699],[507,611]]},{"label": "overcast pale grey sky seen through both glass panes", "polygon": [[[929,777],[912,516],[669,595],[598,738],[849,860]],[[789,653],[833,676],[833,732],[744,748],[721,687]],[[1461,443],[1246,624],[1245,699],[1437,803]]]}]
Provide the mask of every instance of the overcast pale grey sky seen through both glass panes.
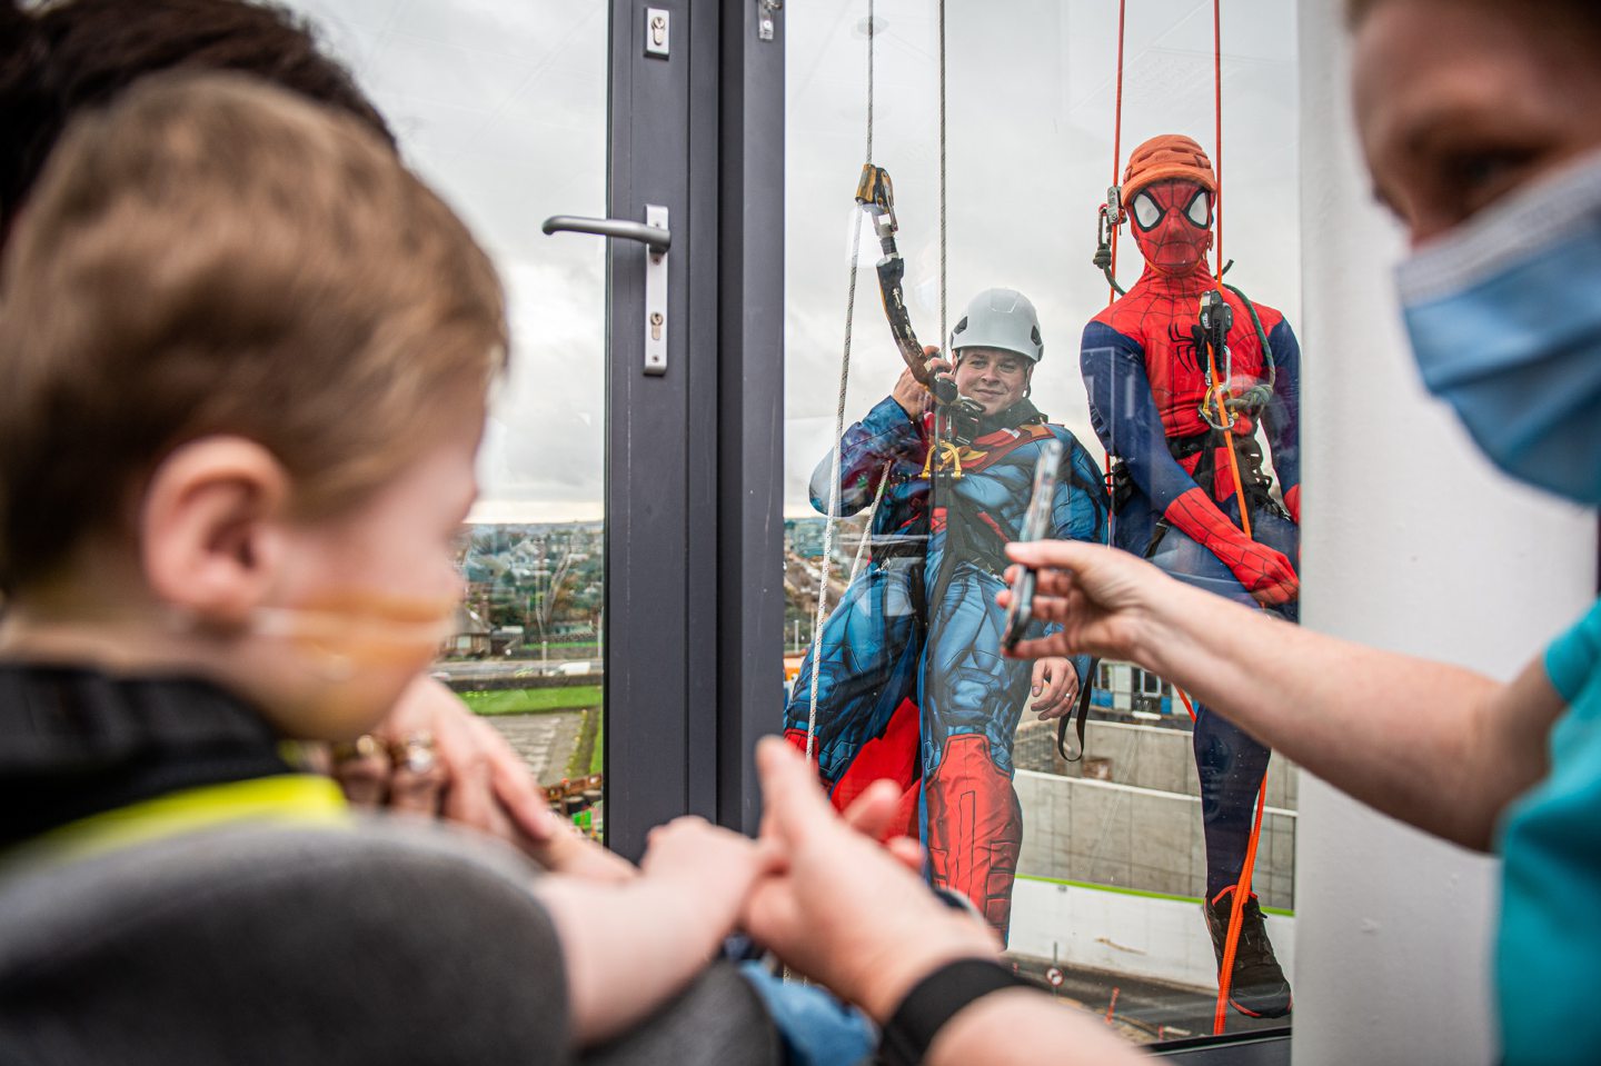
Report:
[{"label": "overcast pale grey sky seen through both glass panes", "polygon": [[[464,214],[506,280],[519,370],[496,400],[475,517],[600,515],[604,242],[548,238],[549,214],[605,213],[600,0],[295,0]],[[786,514],[828,450],[850,272],[852,194],[866,141],[866,0],[792,0],[788,34]],[[938,343],[938,26],[935,0],[877,0],[874,162],[895,179],[908,303]],[[1212,5],[1130,5],[1124,152],[1166,131],[1212,136]],[[1113,170],[1117,5],[946,0],[948,325],[993,285],[1041,311],[1034,400],[1098,455],[1077,338],[1106,301],[1089,264]],[[1294,5],[1230,0],[1223,24],[1223,242],[1230,280],[1300,307]],[[1124,235],[1124,283],[1138,253]],[[900,362],[863,242],[847,418]],[[1308,354],[1316,359],[1316,352]],[[536,373],[532,373],[533,368]]]}]

